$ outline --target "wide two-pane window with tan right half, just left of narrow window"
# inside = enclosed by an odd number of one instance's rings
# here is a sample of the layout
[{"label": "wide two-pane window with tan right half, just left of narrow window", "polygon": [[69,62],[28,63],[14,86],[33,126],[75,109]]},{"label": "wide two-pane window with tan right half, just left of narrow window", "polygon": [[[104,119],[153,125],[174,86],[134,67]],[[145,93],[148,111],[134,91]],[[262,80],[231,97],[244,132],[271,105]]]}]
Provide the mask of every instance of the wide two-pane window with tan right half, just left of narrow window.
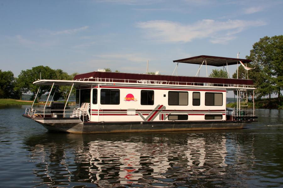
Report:
[{"label": "wide two-pane window with tan right half, just left of narrow window", "polygon": [[169,91],[168,105],[188,105],[188,92],[184,91]]}]

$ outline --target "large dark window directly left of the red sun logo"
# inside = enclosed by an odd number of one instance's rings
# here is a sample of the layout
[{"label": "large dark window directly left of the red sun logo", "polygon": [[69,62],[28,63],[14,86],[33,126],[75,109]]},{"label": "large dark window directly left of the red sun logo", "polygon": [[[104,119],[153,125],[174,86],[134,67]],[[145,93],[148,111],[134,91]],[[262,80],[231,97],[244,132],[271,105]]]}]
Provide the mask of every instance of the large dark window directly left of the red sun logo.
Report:
[{"label": "large dark window directly left of the red sun logo", "polygon": [[100,104],[120,104],[120,90],[101,89]]}]

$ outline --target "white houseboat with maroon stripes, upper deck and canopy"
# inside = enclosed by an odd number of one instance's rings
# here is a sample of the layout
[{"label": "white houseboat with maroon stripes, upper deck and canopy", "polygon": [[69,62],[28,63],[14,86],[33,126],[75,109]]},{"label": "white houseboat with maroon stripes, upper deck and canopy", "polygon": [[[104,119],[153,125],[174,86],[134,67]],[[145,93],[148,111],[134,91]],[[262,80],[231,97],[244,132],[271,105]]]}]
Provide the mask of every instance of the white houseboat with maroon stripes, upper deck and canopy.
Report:
[{"label": "white houseboat with maroon stripes, upper deck and canopy", "polygon": [[[225,67],[229,77],[228,65],[245,66],[251,60],[200,55],[173,62],[175,70],[179,63],[197,64],[199,69],[196,76],[99,69],[76,75],[72,81],[35,81],[35,85],[51,86],[49,96],[44,107],[32,105],[23,116],[48,130],[69,133],[239,129],[256,121],[254,107],[247,109],[248,93],[253,97],[256,89],[252,80],[198,76],[202,66],[211,65]],[[69,97],[65,103],[53,102],[50,94],[58,86],[71,86],[69,96],[76,90],[75,108],[67,107]],[[236,93],[235,108],[226,108],[228,91]]]}]

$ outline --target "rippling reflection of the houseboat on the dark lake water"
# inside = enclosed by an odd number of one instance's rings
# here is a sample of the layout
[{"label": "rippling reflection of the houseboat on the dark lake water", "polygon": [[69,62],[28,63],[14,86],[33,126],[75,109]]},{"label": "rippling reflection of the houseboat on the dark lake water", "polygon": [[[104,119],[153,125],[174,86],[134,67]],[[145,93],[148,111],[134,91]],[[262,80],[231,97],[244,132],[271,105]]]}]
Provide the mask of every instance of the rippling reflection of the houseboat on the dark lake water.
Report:
[{"label": "rippling reflection of the houseboat on the dark lake water", "polygon": [[221,133],[45,133],[25,144],[35,162],[36,186],[150,187],[243,185],[241,170],[251,166],[239,160],[253,154],[243,156],[237,142]]}]

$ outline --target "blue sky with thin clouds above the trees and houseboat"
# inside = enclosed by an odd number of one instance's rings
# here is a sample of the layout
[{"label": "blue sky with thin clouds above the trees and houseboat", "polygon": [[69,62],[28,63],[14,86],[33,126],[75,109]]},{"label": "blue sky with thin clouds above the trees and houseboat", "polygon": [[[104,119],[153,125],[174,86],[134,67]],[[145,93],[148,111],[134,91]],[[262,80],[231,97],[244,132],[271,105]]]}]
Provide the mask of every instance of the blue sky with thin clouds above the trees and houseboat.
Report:
[{"label": "blue sky with thin clouds above the trees and houseboat", "polygon": [[[173,60],[245,58],[260,38],[283,34],[282,10],[282,0],[0,0],[0,69],[145,73],[149,60],[148,71],[171,75]],[[198,68],[180,63],[178,75]]]}]

